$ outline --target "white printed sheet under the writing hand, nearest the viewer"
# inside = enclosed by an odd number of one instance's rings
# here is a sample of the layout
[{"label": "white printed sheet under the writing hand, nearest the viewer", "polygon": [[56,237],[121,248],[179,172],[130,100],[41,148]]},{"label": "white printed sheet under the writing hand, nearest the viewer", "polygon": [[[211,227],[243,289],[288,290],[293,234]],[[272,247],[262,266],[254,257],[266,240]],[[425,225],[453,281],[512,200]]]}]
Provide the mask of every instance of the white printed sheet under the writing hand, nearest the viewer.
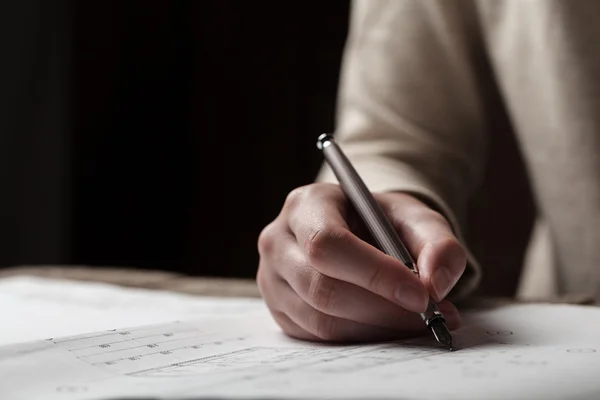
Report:
[{"label": "white printed sheet under the writing hand, nearest the viewer", "polygon": [[463,316],[459,350],[431,338],[332,346],[241,316],[0,348],[0,398],[598,399],[600,310],[519,305]]}]

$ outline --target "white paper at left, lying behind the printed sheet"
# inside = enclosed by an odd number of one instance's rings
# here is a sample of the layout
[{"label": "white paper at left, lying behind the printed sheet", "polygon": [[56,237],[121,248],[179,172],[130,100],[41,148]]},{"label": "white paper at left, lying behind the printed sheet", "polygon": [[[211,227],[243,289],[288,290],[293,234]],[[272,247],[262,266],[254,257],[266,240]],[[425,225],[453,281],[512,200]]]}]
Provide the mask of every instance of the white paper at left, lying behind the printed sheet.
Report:
[{"label": "white paper at left, lying behind the printed sheet", "polygon": [[0,345],[183,318],[244,315],[259,299],[199,297],[105,283],[0,279]]}]

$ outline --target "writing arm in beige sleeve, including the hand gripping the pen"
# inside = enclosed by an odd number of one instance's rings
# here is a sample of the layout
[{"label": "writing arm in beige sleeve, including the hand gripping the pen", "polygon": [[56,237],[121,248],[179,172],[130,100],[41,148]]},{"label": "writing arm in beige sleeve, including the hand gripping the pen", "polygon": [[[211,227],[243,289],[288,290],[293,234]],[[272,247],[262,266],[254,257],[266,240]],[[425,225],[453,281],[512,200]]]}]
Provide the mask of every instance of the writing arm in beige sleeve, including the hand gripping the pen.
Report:
[{"label": "writing arm in beige sleeve, including the hand gripping the pen", "polygon": [[417,313],[430,295],[448,328],[460,326],[447,297],[468,294],[479,279],[459,221],[484,147],[468,4],[355,1],[336,139],[420,275],[371,245],[324,167],[321,182],[293,190],[258,238],[257,283],[288,335],[325,341],[412,336],[425,329]]}]

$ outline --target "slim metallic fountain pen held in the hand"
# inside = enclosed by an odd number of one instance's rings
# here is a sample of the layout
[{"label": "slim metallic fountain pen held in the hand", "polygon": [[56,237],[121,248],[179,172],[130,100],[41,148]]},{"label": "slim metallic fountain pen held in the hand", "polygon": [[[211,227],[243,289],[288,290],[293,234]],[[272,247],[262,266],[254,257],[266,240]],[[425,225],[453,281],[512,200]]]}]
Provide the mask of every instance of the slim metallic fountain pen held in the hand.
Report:
[{"label": "slim metallic fountain pen held in the hand", "polygon": [[[317,148],[323,152],[342,191],[367,225],[380,250],[402,261],[418,277],[419,271],[406,246],[333,136],[327,133],[320,135],[317,140]],[[446,327],[446,319],[431,298],[427,310],[420,315],[435,339],[450,351],[454,350],[452,335]]]}]

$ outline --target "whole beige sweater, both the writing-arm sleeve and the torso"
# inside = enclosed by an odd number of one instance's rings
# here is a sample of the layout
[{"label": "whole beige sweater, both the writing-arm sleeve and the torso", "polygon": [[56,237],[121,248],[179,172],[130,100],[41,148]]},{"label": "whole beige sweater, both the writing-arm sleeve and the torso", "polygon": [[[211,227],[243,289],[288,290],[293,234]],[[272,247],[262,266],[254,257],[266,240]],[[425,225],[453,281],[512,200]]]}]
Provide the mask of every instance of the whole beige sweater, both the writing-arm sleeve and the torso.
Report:
[{"label": "whole beige sweater, both the writing-arm sleeve and the torso", "polygon": [[[490,84],[539,214],[520,295],[600,300],[600,1],[356,0],[335,135],[371,190],[431,200],[462,240]],[[327,167],[318,179],[335,181]],[[453,295],[480,273],[470,256]]]}]

